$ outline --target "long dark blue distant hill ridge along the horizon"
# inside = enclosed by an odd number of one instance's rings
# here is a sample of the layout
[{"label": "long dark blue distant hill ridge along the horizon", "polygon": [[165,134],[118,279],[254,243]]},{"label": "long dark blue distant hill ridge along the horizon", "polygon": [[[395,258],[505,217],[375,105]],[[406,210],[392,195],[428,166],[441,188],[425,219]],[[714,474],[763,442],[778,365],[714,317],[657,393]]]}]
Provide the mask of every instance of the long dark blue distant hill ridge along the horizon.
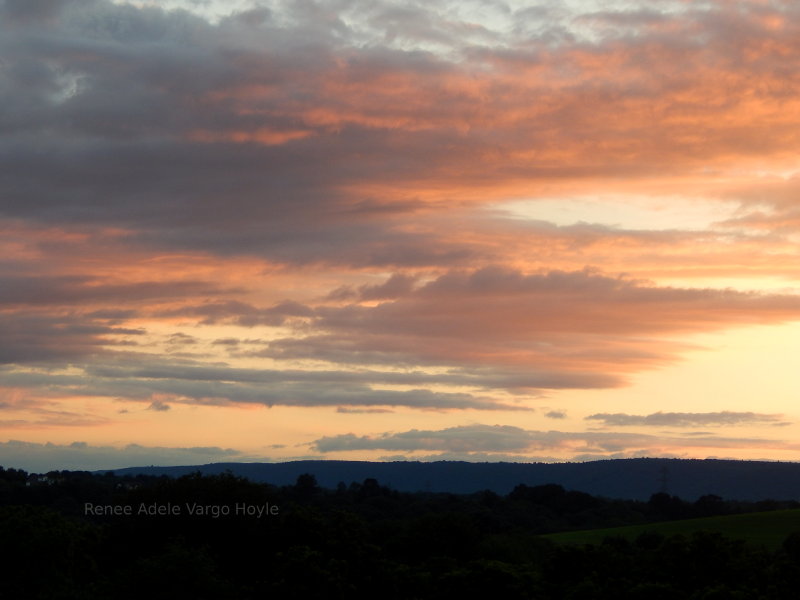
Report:
[{"label": "long dark blue distant hill ridge along the horizon", "polygon": [[288,485],[303,473],[334,488],[375,478],[399,491],[471,493],[492,490],[507,494],[516,485],[557,483],[607,498],[647,500],[666,491],[684,500],[716,494],[727,500],[799,500],[800,463],[632,458],[582,463],[469,463],[293,461],[284,463],[213,463],[181,467],[129,467],[118,475],[179,477],[200,471],[217,474],[230,470],[251,481]]}]

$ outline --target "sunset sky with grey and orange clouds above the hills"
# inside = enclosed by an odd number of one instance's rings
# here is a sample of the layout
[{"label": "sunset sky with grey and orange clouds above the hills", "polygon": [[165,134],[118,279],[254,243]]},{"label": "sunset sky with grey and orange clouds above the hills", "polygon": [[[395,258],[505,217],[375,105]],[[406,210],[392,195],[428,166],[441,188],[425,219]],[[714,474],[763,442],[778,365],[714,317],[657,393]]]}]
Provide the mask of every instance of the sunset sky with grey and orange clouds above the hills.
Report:
[{"label": "sunset sky with grey and orange clouds above the hills", "polygon": [[0,0],[0,464],[800,459],[800,5]]}]

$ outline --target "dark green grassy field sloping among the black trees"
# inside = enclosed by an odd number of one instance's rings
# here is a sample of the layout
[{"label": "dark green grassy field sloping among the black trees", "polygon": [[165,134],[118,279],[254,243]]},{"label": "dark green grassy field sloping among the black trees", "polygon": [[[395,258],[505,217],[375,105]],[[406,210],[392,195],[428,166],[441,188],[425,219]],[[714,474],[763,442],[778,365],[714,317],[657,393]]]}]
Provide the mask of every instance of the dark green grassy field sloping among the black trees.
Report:
[{"label": "dark green grassy field sloping among the black trees", "polygon": [[724,517],[613,527],[610,529],[567,531],[542,537],[548,538],[557,544],[598,544],[608,536],[634,540],[639,534],[646,531],[662,535],[678,533],[691,535],[695,531],[716,531],[729,538],[745,540],[748,543],[775,549],[781,545],[788,534],[793,531],[800,531],[800,510],[776,510]]}]

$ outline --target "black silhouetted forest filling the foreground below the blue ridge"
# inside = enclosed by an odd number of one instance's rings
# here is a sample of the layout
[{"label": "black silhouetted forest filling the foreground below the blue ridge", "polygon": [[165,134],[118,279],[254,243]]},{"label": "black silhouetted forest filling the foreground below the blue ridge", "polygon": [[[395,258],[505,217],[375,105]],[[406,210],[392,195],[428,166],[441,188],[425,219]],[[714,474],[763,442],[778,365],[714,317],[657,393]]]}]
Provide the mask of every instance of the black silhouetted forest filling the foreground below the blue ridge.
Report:
[{"label": "black silhouetted forest filling the foreground below the blue ridge", "polygon": [[596,544],[544,534],[796,509],[794,501],[615,500],[320,487],[0,467],[0,598],[796,598],[800,534],[776,549],[719,533]]}]

